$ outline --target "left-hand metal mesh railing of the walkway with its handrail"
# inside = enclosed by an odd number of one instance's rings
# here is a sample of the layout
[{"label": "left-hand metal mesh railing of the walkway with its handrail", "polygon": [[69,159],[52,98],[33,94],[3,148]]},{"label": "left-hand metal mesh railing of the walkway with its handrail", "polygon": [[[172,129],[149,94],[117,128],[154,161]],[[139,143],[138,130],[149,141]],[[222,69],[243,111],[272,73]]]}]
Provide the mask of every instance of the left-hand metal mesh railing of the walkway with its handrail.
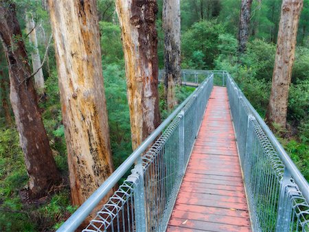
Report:
[{"label": "left-hand metal mesh railing of the walkway with its handrail", "polygon": [[[205,79],[206,78],[206,79]],[[74,231],[110,190],[83,231],[164,231],[213,88],[212,73],[84,202],[58,231]]]}]

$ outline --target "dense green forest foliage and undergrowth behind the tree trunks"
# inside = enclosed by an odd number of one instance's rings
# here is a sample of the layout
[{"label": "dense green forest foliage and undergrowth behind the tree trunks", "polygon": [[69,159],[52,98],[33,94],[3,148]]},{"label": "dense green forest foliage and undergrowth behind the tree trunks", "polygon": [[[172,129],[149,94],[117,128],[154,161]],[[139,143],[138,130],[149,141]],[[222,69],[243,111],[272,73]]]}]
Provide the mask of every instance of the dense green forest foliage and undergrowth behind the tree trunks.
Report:
[{"label": "dense green forest foliage and undergrowth behind the tree trunks", "polygon": [[[38,49],[41,59],[52,34],[45,1],[15,1],[16,10],[27,37],[25,19],[32,15],[36,24]],[[183,69],[227,70],[257,111],[265,116],[271,91],[271,78],[281,1],[254,0],[247,52],[238,55],[238,23],[240,0],[181,0],[181,67]],[[157,14],[159,67],[163,69],[162,4],[158,0]],[[113,0],[98,0],[100,18],[100,42],[106,91],[108,124],[114,166],[119,166],[132,152],[130,118],[126,97],[124,54],[121,32]],[[288,126],[274,125],[275,135],[286,148],[299,170],[309,180],[309,0],[304,0],[297,34],[295,64],[288,100]],[[27,52],[34,49],[25,39]],[[41,95],[40,107],[56,165],[64,179],[62,185],[52,189],[49,196],[35,202],[23,198],[22,189],[27,185],[23,152],[19,135],[10,110],[8,65],[0,47],[0,230],[43,231],[54,230],[76,209],[70,205],[67,178],[67,150],[62,124],[58,74],[54,48],[49,49],[43,65],[45,94]],[[181,87],[179,100],[184,100],[194,89]],[[168,115],[159,86],[161,117]],[[8,114],[9,112],[9,114]]]}]

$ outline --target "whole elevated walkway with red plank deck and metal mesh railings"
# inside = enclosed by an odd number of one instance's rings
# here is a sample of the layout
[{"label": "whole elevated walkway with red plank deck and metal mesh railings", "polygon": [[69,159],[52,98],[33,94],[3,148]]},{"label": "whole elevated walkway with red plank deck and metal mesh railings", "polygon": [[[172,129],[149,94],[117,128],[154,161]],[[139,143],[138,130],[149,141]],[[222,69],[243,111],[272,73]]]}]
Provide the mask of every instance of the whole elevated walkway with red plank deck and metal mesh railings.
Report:
[{"label": "whole elevated walkway with red plank deck and metal mesh railings", "polygon": [[198,87],[58,231],[309,231],[308,182],[229,73],[182,80]]}]

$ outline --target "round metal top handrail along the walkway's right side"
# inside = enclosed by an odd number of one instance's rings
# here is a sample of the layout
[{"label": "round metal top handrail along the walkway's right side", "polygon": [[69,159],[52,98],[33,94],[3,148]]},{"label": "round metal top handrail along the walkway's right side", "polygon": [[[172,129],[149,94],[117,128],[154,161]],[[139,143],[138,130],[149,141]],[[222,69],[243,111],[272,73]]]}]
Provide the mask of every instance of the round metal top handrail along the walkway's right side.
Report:
[{"label": "round metal top handrail along the walkway's right side", "polygon": [[239,86],[236,84],[235,80],[231,77],[227,71],[224,71],[227,75],[227,77],[233,82],[238,89],[240,95],[242,96],[242,99],[244,102],[246,102],[249,110],[251,111],[251,114],[255,117],[255,119],[260,124],[262,130],[264,130],[266,136],[268,137],[269,141],[273,144],[273,147],[277,151],[279,157],[282,159],[282,162],[286,166],[286,169],[290,172],[290,175],[293,177],[295,183],[298,185],[299,189],[301,190],[302,194],[304,195],[304,198],[306,198],[307,202],[309,202],[309,184],[308,181],[306,181],[306,178],[301,174],[299,169],[296,167],[295,163],[290,159],[290,156],[286,153],[286,150],[282,147],[282,145],[279,143],[275,135],[273,135],[273,132],[269,129],[269,127],[266,125],[264,119],[260,116],[258,111],[255,111],[255,108],[251,105],[249,100],[247,100],[247,97],[242,93]]}]

